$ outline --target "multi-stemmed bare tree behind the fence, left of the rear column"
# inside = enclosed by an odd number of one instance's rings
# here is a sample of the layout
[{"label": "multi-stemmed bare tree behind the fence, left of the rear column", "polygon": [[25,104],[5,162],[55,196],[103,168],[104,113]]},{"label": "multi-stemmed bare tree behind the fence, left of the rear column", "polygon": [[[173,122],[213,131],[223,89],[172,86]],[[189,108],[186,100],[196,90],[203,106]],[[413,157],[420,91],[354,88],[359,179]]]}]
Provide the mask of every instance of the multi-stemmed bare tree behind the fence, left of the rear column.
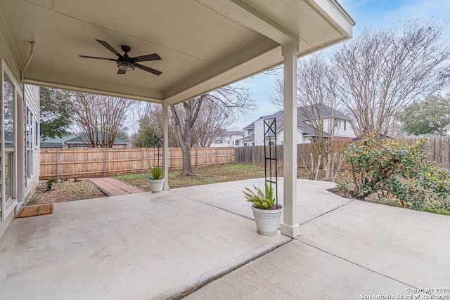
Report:
[{"label": "multi-stemmed bare tree behind the fence, left of the rear column", "polygon": [[72,131],[91,148],[112,148],[134,100],[67,92]]}]

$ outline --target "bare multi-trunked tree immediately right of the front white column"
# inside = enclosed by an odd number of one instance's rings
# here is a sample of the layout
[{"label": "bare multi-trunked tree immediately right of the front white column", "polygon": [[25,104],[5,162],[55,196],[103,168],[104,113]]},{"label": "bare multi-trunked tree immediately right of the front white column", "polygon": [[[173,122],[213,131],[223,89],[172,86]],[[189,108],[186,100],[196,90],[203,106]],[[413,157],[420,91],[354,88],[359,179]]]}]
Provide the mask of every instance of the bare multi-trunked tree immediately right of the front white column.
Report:
[{"label": "bare multi-trunked tree immediately right of the front white column", "polygon": [[[332,180],[340,169],[343,157],[333,155],[334,137],[338,133],[335,117],[338,109],[336,96],[337,77],[333,68],[321,54],[314,54],[298,62],[297,104],[299,105],[299,124],[307,124],[313,129],[314,149],[318,159],[314,162],[312,155],[302,157],[309,178],[316,179],[319,167],[326,169],[326,180]],[[283,105],[283,81],[278,79],[271,101]],[[306,161],[310,159],[310,168]]]}]

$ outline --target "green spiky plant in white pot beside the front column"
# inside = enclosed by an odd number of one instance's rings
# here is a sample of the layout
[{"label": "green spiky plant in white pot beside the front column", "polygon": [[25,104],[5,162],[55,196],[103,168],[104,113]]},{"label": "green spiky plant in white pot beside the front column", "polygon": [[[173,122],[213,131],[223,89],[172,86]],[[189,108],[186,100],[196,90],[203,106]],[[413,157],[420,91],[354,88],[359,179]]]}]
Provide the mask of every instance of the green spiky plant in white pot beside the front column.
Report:
[{"label": "green spiky plant in white pot beside the front column", "polygon": [[245,187],[243,193],[245,199],[252,202],[252,211],[258,233],[261,235],[276,235],[283,207],[281,204],[274,204],[275,197],[272,184],[266,181],[264,185],[265,194],[255,185],[253,185],[255,190]]}]

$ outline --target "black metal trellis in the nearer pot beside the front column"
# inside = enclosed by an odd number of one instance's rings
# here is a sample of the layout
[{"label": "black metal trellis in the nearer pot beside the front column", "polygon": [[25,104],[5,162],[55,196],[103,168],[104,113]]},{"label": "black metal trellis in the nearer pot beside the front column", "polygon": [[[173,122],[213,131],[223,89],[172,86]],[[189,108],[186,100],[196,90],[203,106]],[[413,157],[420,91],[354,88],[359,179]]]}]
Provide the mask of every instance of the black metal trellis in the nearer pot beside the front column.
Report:
[{"label": "black metal trellis in the nearer pot beside the front column", "polygon": [[[274,151],[272,151],[272,146],[274,146]],[[267,164],[269,164],[269,169],[267,169]],[[275,184],[275,201],[278,209],[278,162],[275,118],[264,119],[264,177],[266,182]]]}]

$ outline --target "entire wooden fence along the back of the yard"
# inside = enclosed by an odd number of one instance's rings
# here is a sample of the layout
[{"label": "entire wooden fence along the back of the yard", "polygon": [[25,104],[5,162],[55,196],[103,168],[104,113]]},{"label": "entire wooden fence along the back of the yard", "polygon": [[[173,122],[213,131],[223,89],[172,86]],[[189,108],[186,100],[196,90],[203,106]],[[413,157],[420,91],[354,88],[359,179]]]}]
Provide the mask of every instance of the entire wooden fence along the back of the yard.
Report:
[{"label": "entire wooden fence along the back of the yard", "polygon": [[[418,139],[401,138],[399,141],[415,143]],[[333,154],[340,157],[345,152],[349,141],[338,142],[333,146]],[[427,140],[430,162],[437,167],[450,169],[450,136],[432,137]],[[278,165],[283,165],[283,145],[276,145]],[[88,149],[41,149],[41,180],[58,178],[77,178],[103,176],[146,171],[149,163],[155,163],[156,148],[88,148]],[[183,156],[181,148],[169,148],[168,169],[181,169]],[[310,153],[316,160],[318,154],[311,144],[297,145],[297,166],[311,167]],[[192,163],[198,167],[219,164],[264,164],[264,146],[191,148]],[[302,159],[303,158],[303,159]],[[146,167],[143,167],[143,166]],[[342,163],[342,169],[347,166]]]}]

